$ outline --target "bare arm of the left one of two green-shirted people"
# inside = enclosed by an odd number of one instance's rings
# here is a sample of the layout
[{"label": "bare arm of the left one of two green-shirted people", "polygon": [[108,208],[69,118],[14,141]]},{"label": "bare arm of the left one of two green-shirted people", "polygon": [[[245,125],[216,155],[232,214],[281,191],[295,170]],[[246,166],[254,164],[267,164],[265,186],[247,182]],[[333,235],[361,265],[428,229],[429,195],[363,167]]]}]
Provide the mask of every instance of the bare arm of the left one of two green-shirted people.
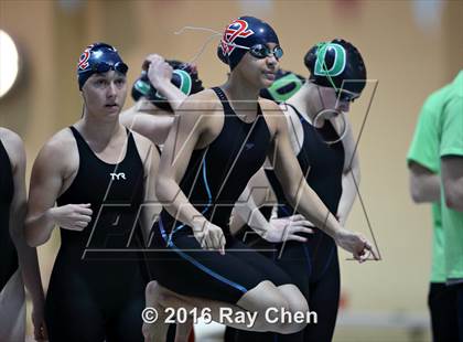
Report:
[{"label": "bare arm of the left one of two green-shirted people", "polygon": [[441,180],[439,174],[414,161],[408,164],[410,175],[410,195],[414,203],[439,202]]}]

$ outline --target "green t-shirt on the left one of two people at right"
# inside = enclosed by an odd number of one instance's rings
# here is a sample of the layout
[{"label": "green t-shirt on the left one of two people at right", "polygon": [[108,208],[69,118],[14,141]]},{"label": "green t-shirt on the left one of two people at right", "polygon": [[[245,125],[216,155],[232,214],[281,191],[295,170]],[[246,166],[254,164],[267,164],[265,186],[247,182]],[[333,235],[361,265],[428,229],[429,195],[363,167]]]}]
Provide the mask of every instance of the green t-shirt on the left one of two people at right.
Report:
[{"label": "green t-shirt on the left one of two people at right", "polygon": [[[424,101],[407,154],[407,162],[416,162],[433,173],[440,174],[439,158],[439,122],[442,107],[448,98],[451,85],[432,93]],[[432,204],[432,263],[431,281],[445,282],[445,257],[444,257],[444,233],[441,223],[441,205],[439,202]]]}]

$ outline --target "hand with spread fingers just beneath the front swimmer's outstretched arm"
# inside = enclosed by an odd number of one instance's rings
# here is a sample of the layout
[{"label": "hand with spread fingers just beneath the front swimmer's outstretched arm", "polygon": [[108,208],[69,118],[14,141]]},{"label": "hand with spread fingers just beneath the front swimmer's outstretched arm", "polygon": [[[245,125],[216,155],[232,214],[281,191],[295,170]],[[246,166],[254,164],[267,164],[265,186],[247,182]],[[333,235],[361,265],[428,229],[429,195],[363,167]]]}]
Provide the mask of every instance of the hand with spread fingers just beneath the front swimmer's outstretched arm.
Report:
[{"label": "hand with spread fingers just beneath the front swimmer's outstretched arm", "polygon": [[313,231],[309,227],[314,227],[314,225],[300,214],[281,218],[271,218],[269,227],[262,234],[262,238],[270,243],[282,243],[287,241],[305,243],[308,239],[298,235],[298,233],[312,234]]}]

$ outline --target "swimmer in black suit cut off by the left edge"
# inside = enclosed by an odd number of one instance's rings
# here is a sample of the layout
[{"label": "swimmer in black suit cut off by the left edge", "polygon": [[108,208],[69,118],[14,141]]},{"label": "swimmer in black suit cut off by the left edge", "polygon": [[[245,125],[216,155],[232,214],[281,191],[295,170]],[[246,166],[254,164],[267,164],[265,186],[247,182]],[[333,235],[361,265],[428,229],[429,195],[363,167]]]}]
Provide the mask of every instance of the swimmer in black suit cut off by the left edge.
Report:
[{"label": "swimmer in black suit cut off by the left edge", "polygon": [[34,338],[45,341],[44,293],[36,249],[26,245],[25,152],[21,138],[0,127],[0,341],[24,341],[25,292],[32,303]]}]

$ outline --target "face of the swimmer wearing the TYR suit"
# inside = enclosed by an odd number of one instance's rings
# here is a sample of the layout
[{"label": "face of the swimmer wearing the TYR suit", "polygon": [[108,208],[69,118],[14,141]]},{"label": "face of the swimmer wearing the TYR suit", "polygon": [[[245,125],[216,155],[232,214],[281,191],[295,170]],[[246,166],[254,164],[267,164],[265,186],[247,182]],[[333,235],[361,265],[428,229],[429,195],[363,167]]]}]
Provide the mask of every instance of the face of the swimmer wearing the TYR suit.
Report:
[{"label": "face of the swimmer wearing the TYR suit", "polygon": [[126,76],[116,71],[93,74],[82,88],[88,111],[118,115],[127,96]]}]

